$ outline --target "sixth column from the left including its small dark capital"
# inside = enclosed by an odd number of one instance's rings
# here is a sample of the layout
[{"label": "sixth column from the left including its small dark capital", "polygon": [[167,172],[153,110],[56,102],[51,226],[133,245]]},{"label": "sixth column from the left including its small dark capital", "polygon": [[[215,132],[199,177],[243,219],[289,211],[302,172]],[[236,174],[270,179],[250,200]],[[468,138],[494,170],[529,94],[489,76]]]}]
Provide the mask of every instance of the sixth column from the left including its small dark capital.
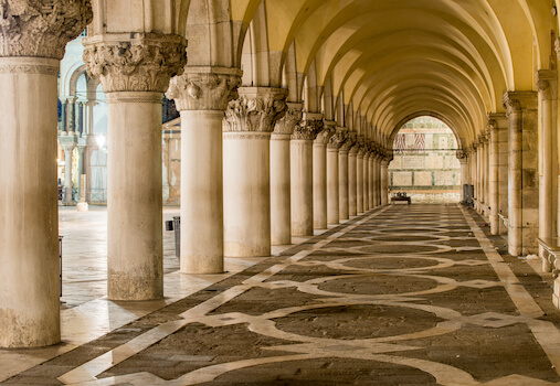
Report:
[{"label": "sixth column from the left including its small dark capital", "polygon": [[292,235],[313,236],[313,141],[323,131],[321,114],[306,112],[290,141]]}]

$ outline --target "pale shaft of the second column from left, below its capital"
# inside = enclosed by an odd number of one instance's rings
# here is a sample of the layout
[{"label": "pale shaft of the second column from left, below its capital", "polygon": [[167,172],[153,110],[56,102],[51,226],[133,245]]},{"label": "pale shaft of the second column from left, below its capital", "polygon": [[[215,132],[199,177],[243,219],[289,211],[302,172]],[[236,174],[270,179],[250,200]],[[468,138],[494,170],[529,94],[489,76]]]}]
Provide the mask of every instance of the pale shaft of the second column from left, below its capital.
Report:
[{"label": "pale shaft of the second column from left, below its capital", "polygon": [[108,96],[108,297],[163,297],[161,93]]}]

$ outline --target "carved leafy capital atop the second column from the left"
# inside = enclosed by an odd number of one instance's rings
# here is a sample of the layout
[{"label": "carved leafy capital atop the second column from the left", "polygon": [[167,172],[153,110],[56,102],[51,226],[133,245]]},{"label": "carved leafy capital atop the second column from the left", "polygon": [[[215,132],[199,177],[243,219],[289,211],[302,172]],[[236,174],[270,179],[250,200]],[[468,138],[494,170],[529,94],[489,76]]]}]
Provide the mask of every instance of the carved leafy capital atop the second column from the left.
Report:
[{"label": "carved leafy capital atop the second column from the left", "polygon": [[84,47],[87,73],[105,93],[165,93],[187,64],[187,42],[179,35],[104,34],[84,39]]}]

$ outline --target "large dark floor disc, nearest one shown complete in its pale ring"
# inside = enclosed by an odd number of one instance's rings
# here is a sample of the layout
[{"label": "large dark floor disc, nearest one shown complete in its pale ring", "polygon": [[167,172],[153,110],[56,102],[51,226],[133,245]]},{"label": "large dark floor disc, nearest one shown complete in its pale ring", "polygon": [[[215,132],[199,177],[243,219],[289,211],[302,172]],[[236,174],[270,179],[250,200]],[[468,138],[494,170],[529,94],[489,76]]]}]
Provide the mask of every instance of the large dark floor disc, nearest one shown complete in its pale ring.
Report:
[{"label": "large dark floor disc, nearest one shown complete in its pale ring", "polygon": [[366,340],[426,331],[444,320],[406,307],[356,304],[299,311],[274,321],[278,330],[297,335]]}]

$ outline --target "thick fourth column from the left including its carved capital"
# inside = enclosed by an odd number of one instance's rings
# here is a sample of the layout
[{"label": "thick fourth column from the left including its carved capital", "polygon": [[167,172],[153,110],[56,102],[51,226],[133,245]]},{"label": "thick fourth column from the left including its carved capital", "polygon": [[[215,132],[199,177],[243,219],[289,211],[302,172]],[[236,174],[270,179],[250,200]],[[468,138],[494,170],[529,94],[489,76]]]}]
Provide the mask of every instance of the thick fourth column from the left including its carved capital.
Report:
[{"label": "thick fourth column from the left including its carved capital", "polygon": [[282,88],[241,87],[223,133],[224,254],[271,255],[271,132],[286,114]]}]

